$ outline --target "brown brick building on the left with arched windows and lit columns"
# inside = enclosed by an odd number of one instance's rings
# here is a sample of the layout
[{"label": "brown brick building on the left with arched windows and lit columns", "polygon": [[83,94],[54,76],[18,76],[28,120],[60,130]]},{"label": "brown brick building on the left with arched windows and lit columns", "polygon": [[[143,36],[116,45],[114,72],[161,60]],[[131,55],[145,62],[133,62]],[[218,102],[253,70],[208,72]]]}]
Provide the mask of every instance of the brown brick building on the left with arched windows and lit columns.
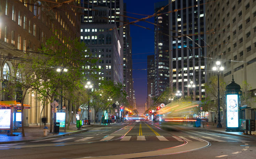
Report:
[{"label": "brown brick building on the left with arched windows and lit columns", "polygon": [[[7,74],[17,73],[13,68],[17,67],[20,61],[15,56],[22,57],[26,51],[37,51],[46,40],[53,36],[54,30],[59,37],[59,42],[63,37],[70,39],[78,38],[80,35],[80,16],[79,9],[75,6],[77,2],[72,1],[69,5],[60,5],[57,9],[46,9],[45,6],[53,6],[51,1],[32,1],[32,0],[0,0],[0,44],[2,63],[0,64],[0,89],[8,89],[6,83],[9,78]],[[4,57],[14,57],[13,59]],[[17,58],[19,59],[19,58]],[[32,91],[25,96],[24,104],[31,105],[30,109],[24,109],[22,121],[26,126],[38,125],[41,116],[47,117],[47,124],[50,123],[51,105],[47,104],[42,110],[40,101],[36,96],[33,97]],[[17,100],[15,97],[5,96],[0,93],[0,100]]]}]

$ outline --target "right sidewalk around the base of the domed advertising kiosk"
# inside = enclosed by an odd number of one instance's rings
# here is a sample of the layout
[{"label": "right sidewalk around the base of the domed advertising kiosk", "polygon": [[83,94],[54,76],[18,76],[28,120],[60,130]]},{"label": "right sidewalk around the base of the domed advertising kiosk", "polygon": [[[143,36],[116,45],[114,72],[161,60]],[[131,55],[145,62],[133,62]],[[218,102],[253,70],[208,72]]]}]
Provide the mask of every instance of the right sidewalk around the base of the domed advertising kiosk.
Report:
[{"label": "right sidewalk around the base of the domed advertising kiosk", "polygon": [[[204,129],[208,130],[211,132],[216,132],[216,133],[221,133],[221,134],[227,134],[227,135],[234,135],[234,136],[243,136],[247,138],[256,138],[256,131],[252,131],[251,135],[243,135],[243,132],[227,132],[226,127],[217,127],[217,124],[212,125],[211,122],[205,122],[204,127],[203,124],[201,123],[201,127],[198,127],[198,129]],[[248,132],[249,133],[249,132]]]}]

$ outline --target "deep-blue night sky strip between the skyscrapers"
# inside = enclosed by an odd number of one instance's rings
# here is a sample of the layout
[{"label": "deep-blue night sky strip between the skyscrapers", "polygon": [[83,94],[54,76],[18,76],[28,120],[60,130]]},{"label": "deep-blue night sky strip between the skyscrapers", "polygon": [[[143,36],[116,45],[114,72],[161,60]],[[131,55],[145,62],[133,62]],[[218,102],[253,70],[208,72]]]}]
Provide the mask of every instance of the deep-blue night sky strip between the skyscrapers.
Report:
[{"label": "deep-blue night sky strip between the skyscrapers", "polygon": [[[143,15],[154,14],[154,3],[163,0],[124,0],[127,12]],[[146,16],[127,13],[127,16],[143,18]],[[134,21],[135,19],[129,19]],[[147,21],[154,23],[154,18]],[[138,22],[137,25],[150,28],[144,29],[130,25],[132,37],[132,62],[133,62],[133,81],[137,107],[145,106],[147,98],[147,55],[154,54],[154,25],[146,22]],[[145,70],[143,70],[145,69]]]}]

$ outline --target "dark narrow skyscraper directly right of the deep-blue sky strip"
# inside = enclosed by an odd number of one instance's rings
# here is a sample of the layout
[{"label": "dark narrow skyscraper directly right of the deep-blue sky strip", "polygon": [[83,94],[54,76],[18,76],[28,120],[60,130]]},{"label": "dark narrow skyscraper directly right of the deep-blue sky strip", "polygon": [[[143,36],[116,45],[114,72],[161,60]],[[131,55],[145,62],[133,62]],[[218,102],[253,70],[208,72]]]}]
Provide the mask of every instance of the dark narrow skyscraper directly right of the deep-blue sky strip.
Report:
[{"label": "dark narrow skyscraper directly right of the deep-blue sky strip", "polygon": [[[155,13],[162,7],[168,5],[168,0],[155,3]],[[168,7],[165,7],[160,16],[156,16],[155,26],[155,77],[154,77],[154,95],[158,96],[169,86],[169,18]]]}]

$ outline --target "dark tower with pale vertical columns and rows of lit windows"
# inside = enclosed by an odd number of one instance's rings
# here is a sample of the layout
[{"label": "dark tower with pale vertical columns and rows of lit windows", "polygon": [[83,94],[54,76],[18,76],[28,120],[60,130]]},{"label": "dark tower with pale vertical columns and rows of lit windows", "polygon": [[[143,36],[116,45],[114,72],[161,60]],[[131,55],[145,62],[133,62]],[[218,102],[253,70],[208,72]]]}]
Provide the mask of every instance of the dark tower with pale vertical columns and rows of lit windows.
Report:
[{"label": "dark tower with pale vertical columns and rows of lit windows", "polygon": [[193,99],[201,100],[205,93],[205,0],[169,2],[170,87],[189,96],[187,85],[193,81]]}]

